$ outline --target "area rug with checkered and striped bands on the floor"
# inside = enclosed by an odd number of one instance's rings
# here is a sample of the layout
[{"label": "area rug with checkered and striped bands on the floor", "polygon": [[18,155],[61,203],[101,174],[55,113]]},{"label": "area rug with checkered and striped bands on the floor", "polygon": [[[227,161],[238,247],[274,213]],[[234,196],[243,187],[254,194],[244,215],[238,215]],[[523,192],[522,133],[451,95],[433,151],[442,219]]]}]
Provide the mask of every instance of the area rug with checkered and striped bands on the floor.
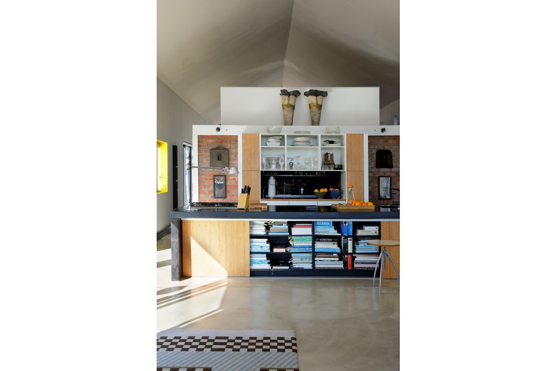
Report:
[{"label": "area rug with checkered and striped bands on the floor", "polygon": [[165,330],[157,371],[299,371],[294,331]]}]

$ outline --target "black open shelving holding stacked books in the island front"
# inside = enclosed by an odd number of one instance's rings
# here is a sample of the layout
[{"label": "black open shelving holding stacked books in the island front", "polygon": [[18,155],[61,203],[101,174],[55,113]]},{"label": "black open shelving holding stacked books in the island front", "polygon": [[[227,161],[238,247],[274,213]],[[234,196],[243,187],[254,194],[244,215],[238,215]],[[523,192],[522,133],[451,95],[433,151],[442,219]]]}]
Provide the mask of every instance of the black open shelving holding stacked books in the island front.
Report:
[{"label": "black open shelving holding stacked books in the island front", "polygon": [[[292,235],[292,225],[296,223],[301,224],[312,224],[311,234],[305,235]],[[265,235],[250,235],[250,238],[266,238],[270,245],[271,250],[272,246],[275,244],[281,245],[289,245],[289,238],[292,236],[311,236],[312,237],[312,249],[311,249],[311,265],[312,269],[300,269],[300,268],[290,268],[290,269],[250,269],[250,276],[251,277],[270,277],[270,276],[278,276],[278,277],[373,277],[374,269],[316,269],[315,268],[315,238],[325,237],[325,238],[336,238],[337,245],[341,249],[341,253],[334,253],[339,254],[340,258],[343,259],[344,255],[353,255],[354,253],[348,253],[343,250],[342,246],[342,238],[343,237],[351,237],[353,238],[353,246],[355,246],[356,239],[358,238],[373,238],[373,239],[380,239],[381,230],[380,230],[380,222],[378,221],[353,221],[353,234],[351,235],[326,235],[326,234],[315,234],[315,226],[314,221],[297,221],[297,220],[289,220],[287,221],[289,225],[289,234],[265,234]],[[333,221],[333,225],[336,230],[341,233],[340,229],[341,221]],[[361,236],[355,235],[356,229],[360,228],[363,224],[366,225],[377,225],[379,226],[379,235],[377,236]],[[268,233],[268,229],[267,229]],[[354,250],[353,250],[354,251]],[[379,250],[380,251],[380,250]],[[309,251],[307,252],[309,253]],[[267,259],[271,260],[271,265],[273,262],[276,261],[288,261],[291,257],[290,252],[286,253],[250,253],[250,254],[266,254]],[[360,253],[361,254],[361,253]],[[367,253],[366,253],[367,254]],[[377,254],[379,255],[379,253]],[[378,262],[378,268],[380,268]]]}]

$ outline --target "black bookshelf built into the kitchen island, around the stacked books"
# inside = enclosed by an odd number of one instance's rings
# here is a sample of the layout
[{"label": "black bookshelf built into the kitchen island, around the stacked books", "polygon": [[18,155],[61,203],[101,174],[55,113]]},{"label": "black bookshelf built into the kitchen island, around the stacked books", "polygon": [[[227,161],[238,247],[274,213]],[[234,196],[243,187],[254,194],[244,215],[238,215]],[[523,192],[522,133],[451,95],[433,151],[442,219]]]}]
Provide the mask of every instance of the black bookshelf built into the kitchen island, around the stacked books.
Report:
[{"label": "black bookshelf built into the kitchen island, around the stacked books", "polygon": [[[336,229],[339,235],[332,235],[332,234],[320,234],[315,233],[315,222],[330,222],[332,227]],[[262,221],[257,221],[262,222]],[[268,222],[268,221],[267,221]],[[356,253],[355,252],[355,244],[356,241],[360,239],[380,239],[381,238],[381,231],[380,231],[380,222],[379,221],[351,221],[352,223],[352,232],[351,234],[341,234],[341,224],[342,221],[326,221],[326,220],[312,220],[312,221],[297,221],[297,220],[288,220],[288,221],[281,221],[285,222],[288,226],[288,234],[268,234],[269,226],[266,225],[266,233],[265,235],[261,234],[250,234],[250,239],[266,239],[268,244],[270,245],[271,252],[265,253],[254,253],[253,251],[250,254],[262,254],[266,256],[266,259],[270,261],[270,265],[276,264],[278,261],[289,261],[292,257],[292,252],[275,252],[272,251],[274,245],[290,245],[290,241],[292,238],[302,237],[302,236],[311,236],[311,249],[307,250],[307,252],[303,252],[306,254],[311,253],[311,269],[302,269],[302,268],[292,268],[292,264],[290,264],[289,269],[250,269],[250,276],[251,277],[269,277],[269,276],[277,276],[277,277],[373,277],[374,269],[352,269],[347,268],[347,262],[345,261],[345,257],[352,256],[354,254],[370,254],[370,255],[379,255],[380,251],[377,253]],[[297,235],[292,234],[292,229],[296,224],[311,224],[311,233]],[[370,225],[370,226],[377,226],[378,234],[373,236],[362,236],[357,235],[356,230],[362,229],[363,225]],[[328,254],[336,254],[339,256],[339,261],[343,261],[343,268],[316,268],[315,260],[316,260],[316,251],[315,251],[315,243],[316,239],[320,238],[329,238],[333,239],[336,242],[336,245],[340,247],[340,253],[328,253]],[[353,250],[352,252],[348,252],[347,249],[343,248],[343,238],[351,238],[353,239]],[[296,253],[296,252],[295,252]],[[302,254],[303,254],[302,253]],[[347,259],[347,258],[346,258]],[[352,265],[354,261],[352,260]],[[379,263],[377,263],[379,264]],[[378,268],[380,265],[378,265]]]}]

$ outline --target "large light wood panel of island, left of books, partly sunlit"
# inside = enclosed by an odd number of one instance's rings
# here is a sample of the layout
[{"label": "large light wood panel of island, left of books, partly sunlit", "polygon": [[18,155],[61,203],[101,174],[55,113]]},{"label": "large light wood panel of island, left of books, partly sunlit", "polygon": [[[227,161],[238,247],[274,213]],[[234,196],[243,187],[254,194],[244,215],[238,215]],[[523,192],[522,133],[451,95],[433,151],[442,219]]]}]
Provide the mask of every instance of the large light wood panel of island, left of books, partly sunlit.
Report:
[{"label": "large light wood panel of island, left of books, partly sunlit", "polygon": [[184,277],[249,277],[250,222],[183,220]]}]

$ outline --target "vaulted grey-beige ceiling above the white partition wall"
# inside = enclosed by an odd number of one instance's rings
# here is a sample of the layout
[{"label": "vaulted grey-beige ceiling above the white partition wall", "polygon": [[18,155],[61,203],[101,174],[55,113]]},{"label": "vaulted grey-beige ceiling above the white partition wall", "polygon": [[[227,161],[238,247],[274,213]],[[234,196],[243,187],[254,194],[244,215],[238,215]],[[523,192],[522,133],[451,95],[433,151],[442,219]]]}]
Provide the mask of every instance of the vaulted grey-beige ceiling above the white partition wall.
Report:
[{"label": "vaulted grey-beige ceiling above the white partition wall", "polygon": [[157,76],[214,124],[221,86],[379,86],[381,107],[399,97],[398,0],[158,0],[157,29]]}]

